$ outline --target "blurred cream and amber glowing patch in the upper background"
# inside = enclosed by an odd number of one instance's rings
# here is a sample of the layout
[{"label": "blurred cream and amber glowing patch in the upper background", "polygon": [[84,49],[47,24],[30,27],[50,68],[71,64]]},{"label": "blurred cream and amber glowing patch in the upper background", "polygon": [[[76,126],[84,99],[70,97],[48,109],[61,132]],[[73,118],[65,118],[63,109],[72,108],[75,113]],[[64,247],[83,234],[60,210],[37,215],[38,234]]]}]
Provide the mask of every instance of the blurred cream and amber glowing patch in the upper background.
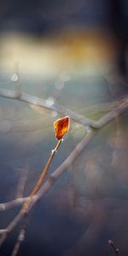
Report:
[{"label": "blurred cream and amber glowing patch in the upper background", "polygon": [[20,73],[46,78],[63,70],[77,75],[102,73],[113,65],[116,55],[112,34],[103,31],[68,31],[45,38],[3,34],[0,46],[0,67],[12,69],[18,63]]}]

